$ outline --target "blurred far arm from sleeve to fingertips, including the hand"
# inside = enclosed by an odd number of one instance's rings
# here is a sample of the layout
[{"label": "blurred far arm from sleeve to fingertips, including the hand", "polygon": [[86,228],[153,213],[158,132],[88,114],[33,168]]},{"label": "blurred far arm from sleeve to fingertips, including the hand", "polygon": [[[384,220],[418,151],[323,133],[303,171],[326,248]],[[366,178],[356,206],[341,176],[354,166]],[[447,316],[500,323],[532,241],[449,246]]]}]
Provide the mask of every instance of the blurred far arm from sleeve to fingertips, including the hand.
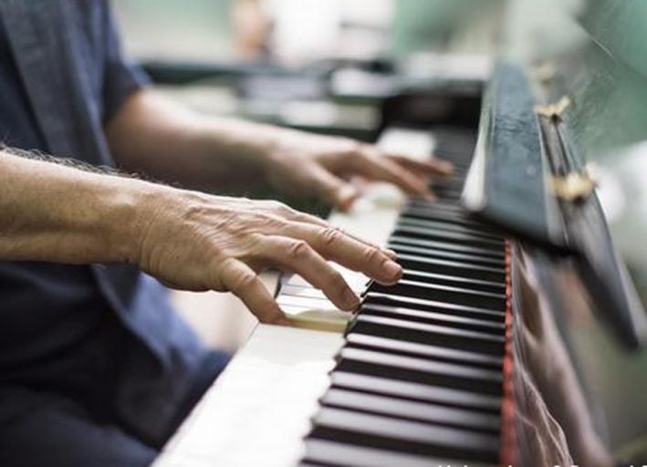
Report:
[{"label": "blurred far arm from sleeve to fingertips, including the hand", "polygon": [[427,178],[451,173],[446,162],[409,161],[354,140],[204,117],[150,89],[130,96],[106,132],[115,160],[128,171],[208,190],[268,183],[342,209],[359,194],[348,183],[354,175],[429,196]]}]

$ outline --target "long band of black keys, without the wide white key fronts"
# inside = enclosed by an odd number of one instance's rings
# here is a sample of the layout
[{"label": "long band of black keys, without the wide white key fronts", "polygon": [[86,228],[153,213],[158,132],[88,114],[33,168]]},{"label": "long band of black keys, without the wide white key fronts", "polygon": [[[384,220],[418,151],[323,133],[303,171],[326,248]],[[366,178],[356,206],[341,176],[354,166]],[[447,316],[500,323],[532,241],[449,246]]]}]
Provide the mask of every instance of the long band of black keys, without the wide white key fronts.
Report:
[{"label": "long band of black keys, without the wide white key fronts", "polygon": [[404,275],[364,292],[302,467],[501,459],[506,241],[458,206],[472,140],[451,136],[436,152],[454,162],[456,176],[435,185],[439,202],[404,205],[387,244]]}]

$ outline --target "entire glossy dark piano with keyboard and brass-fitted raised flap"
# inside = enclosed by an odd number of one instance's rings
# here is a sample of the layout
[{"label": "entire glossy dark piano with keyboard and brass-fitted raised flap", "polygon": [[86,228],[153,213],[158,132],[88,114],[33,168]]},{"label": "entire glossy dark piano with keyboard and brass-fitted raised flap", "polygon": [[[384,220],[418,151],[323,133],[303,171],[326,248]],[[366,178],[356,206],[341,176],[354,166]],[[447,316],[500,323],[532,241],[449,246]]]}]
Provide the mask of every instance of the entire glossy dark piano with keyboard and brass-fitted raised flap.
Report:
[{"label": "entire glossy dark piano with keyboard and brass-fitted raised flap", "polygon": [[393,249],[402,280],[340,269],[350,315],[280,276],[294,327],[258,325],[154,466],[646,463],[647,321],[585,165],[588,131],[622,140],[590,93],[647,103],[646,70],[602,34],[636,8],[619,5],[580,16],[577,63],[496,60],[387,99],[378,144],[454,177],[435,202],[374,186],[329,221]]}]

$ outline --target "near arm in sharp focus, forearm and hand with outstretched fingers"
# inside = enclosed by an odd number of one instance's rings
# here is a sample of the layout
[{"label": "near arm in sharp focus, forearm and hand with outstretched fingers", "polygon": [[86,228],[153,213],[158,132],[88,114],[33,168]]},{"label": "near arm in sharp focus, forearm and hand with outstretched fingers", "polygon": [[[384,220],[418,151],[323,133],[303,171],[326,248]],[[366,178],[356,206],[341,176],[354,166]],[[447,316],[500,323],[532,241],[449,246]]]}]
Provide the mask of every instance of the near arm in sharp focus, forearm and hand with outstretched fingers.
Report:
[{"label": "near arm in sharp focus, forearm and hand with outstretched fingers", "polygon": [[352,310],[359,299],[327,260],[392,284],[392,252],[279,202],[177,190],[0,150],[0,259],[129,262],[176,288],[232,291],[259,319],[285,317],[257,273],[295,271]]}]

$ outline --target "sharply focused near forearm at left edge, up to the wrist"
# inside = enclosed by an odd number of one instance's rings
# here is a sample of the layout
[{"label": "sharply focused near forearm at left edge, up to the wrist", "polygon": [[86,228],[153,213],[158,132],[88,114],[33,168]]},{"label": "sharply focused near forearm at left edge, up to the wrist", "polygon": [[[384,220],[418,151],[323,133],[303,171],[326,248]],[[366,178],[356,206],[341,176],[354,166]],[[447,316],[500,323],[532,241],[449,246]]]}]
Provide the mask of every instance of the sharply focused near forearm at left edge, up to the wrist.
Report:
[{"label": "sharply focused near forearm at left edge, up to the wrist", "polygon": [[130,261],[157,185],[0,150],[0,259]]}]

